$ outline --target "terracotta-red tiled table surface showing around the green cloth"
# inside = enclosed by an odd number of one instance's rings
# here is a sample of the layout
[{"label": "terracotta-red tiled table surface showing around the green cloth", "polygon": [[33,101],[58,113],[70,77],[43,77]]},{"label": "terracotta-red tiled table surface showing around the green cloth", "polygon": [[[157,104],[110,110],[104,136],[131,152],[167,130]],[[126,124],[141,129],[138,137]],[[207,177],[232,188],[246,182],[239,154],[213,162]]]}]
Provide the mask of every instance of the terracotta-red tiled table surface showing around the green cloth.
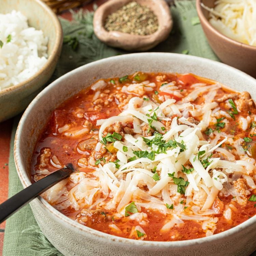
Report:
[{"label": "terracotta-red tiled table surface showing around the green cloth", "polygon": [[[81,8],[84,10],[93,10],[93,4],[98,6],[107,0],[94,0],[89,4],[84,4]],[[78,9],[74,9],[77,11]],[[70,11],[65,11],[59,16],[62,18],[72,20],[72,15]],[[5,122],[0,123],[0,203],[8,198],[8,175],[9,175],[9,153],[10,153],[10,141],[11,141],[11,131],[12,131],[13,118]],[[3,238],[4,238],[4,228],[5,222],[0,224],[0,256],[2,256],[3,250]]]}]

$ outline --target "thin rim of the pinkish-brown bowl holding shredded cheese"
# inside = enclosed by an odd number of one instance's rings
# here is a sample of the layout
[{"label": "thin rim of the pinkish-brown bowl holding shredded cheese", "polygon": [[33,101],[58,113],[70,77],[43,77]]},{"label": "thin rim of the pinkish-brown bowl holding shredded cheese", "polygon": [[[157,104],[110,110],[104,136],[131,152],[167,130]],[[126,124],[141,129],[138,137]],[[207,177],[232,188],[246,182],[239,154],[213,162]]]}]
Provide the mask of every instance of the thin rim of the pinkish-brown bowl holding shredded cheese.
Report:
[{"label": "thin rim of the pinkish-brown bowl holding shredded cheese", "polygon": [[209,20],[204,16],[203,12],[202,12],[202,6],[201,6],[201,0],[196,0],[196,9],[197,9],[197,14],[201,20],[202,23],[204,23],[204,25],[212,32],[214,33],[217,37],[221,37],[222,39],[228,41],[229,43],[232,43],[234,45],[237,45],[238,47],[244,47],[253,51],[256,51],[256,46],[253,45],[249,45],[249,44],[245,44],[245,43],[241,43],[238,42],[236,40],[233,40],[229,37],[227,37],[226,35],[224,35],[223,33],[219,32],[216,28],[214,28]]}]

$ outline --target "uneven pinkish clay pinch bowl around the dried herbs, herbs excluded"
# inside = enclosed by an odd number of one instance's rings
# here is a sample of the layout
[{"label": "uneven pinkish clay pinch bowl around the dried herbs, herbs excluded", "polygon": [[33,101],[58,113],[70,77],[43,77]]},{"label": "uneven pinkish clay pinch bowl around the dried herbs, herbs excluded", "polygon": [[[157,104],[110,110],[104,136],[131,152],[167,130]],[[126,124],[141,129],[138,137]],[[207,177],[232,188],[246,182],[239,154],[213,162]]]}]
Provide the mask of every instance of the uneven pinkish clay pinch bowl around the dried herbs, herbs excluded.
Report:
[{"label": "uneven pinkish clay pinch bowl around the dried herbs, herbs excluded", "polygon": [[119,31],[106,31],[104,22],[106,17],[126,5],[130,0],[110,0],[102,4],[95,12],[93,19],[96,36],[113,47],[125,50],[146,51],[165,40],[172,29],[170,8],[164,0],[136,0],[142,6],[150,8],[158,19],[158,30],[150,35],[134,35]]}]

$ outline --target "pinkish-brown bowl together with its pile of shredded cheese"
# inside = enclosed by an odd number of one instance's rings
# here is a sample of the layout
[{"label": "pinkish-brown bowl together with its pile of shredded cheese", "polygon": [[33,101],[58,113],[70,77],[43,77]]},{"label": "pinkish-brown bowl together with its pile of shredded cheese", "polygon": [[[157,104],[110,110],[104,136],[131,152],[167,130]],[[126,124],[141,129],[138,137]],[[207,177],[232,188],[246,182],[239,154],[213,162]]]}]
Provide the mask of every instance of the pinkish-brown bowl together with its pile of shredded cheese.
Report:
[{"label": "pinkish-brown bowl together with its pile of shredded cheese", "polygon": [[197,0],[202,28],[215,54],[226,64],[256,77],[256,3]]}]

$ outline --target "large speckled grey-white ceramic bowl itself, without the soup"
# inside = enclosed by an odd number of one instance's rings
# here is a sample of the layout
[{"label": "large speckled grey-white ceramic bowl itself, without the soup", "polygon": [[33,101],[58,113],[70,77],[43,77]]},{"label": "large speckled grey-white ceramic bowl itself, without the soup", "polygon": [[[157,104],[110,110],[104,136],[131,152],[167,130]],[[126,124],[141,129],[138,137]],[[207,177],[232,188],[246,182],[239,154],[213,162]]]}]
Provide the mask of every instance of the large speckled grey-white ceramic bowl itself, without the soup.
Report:
[{"label": "large speckled grey-white ceramic bowl itself, without the soup", "polygon": [[[247,90],[256,99],[255,79],[209,59],[184,54],[137,53],[89,63],[47,86],[23,114],[16,132],[14,156],[24,187],[31,184],[32,154],[53,110],[98,79],[122,77],[135,71],[194,73],[237,91]],[[41,197],[34,199],[30,205],[45,236],[65,256],[234,256],[249,255],[256,248],[256,216],[210,237],[177,242],[152,242],[120,238],[83,226],[61,214]]]}]

